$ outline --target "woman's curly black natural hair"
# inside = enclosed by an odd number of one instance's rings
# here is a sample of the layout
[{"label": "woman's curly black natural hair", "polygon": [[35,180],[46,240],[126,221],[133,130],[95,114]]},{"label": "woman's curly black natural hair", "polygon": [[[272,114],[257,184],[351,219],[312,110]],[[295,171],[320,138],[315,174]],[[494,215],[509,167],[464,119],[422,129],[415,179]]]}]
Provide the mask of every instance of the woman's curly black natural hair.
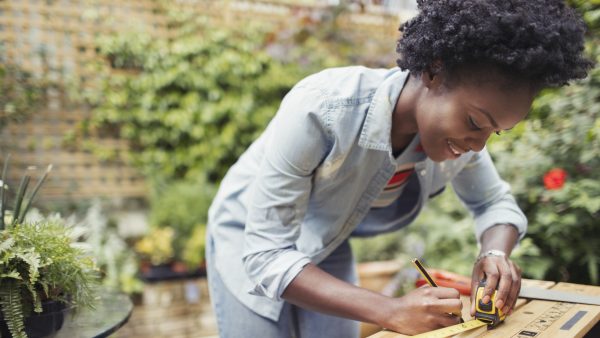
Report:
[{"label": "woman's curly black natural hair", "polygon": [[397,64],[412,74],[452,75],[481,66],[536,88],[584,78],[585,25],[562,0],[417,0],[400,27]]}]

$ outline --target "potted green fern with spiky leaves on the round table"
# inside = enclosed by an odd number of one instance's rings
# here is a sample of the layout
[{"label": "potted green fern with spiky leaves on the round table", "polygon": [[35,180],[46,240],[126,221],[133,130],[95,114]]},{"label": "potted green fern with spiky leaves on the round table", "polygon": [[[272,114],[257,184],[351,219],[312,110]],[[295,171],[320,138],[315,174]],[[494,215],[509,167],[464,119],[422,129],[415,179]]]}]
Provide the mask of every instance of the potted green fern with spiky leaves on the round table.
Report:
[{"label": "potted green fern with spiky leaves on the round table", "polygon": [[8,158],[0,184],[0,334],[44,337],[60,329],[65,311],[93,306],[96,269],[93,260],[72,245],[69,227],[58,220],[25,219],[51,166],[29,195],[31,177],[23,176],[10,212],[7,168]]}]

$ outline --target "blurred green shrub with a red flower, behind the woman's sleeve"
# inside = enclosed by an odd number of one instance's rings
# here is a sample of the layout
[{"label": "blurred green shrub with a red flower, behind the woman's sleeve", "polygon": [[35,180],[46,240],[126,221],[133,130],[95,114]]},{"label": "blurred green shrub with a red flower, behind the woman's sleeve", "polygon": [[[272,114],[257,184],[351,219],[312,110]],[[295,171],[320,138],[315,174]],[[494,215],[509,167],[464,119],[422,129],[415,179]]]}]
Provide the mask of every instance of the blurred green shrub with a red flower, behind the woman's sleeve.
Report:
[{"label": "blurred green shrub with a red flower, behind the woman's sleeve", "polygon": [[[584,13],[590,27],[588,52],[598,63],[600,4],[572,3]],[[492,137],[488,148],[529,220],[528,234],[513,254],[523,275],[598,284],[600,68],[586,79],[541,93],[527,119],[507,135]],[[429,266],[470,275],[478,251],[472,226],[456,197],[446,192],[415,224],[388,236],[400,243],[396,256],[408,255],[403,257],[408,261],[422,255]]]}]

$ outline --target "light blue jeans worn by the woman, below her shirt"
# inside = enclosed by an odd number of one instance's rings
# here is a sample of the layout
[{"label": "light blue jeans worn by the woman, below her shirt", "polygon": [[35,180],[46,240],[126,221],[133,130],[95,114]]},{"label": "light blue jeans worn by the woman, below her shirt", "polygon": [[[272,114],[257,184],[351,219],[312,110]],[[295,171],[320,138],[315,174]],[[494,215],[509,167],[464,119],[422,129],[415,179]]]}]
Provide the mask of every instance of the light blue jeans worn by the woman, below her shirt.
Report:
[{"label": "light blue jeans worn by the woman, below her shirt", "polygon": [[[210,300],[217,317],[220,338],[321,338],[359,336],[359,322],[325,315],[285,303],[279,321],[254,313],[229,292],[214,267],[214,242],[207,236],[206,260]],[[319,267],[331,275],[357,284],[356,267],[348,241],[342,243]]]}]

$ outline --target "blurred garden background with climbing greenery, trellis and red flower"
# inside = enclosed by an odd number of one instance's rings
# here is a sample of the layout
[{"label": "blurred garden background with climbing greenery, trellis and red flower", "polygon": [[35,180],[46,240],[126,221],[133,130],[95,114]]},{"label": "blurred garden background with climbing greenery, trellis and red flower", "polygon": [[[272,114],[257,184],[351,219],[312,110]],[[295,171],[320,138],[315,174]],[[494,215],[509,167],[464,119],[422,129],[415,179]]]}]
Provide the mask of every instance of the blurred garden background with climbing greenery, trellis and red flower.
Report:
[{"label": "blurred garden background with climbing greenery, trellis and red flower", "polygon": [[[599,61],[600,0],[569,3]],[[215,335],[204,229],[227,168],[304,76],[394,67],[415,11],[413,0],[0,0],[3,183],[15,194],[24,173],[53,165],[28,217],[77,229],[100,282],[135,300],[116,336]],[[514,254],[527,278],[600,284],[599,117],[595,67],[490,139],[529,218]],[[392,279],[412,257],[470,275],[473,222],[446,190],[408,228],[353,239],[356,259],[394,262]]]}]

